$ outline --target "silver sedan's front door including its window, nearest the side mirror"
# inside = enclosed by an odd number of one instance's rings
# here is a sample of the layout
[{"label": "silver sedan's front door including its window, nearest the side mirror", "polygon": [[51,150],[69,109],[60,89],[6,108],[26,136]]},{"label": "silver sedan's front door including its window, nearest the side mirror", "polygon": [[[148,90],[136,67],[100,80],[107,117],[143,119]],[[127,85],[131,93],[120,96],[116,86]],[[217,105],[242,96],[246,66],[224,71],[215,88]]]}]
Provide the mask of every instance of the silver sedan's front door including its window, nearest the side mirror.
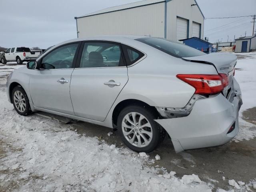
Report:
[{"label": "silver sedan's front door including its window, nearest the side mirror", "polygon": [[70,81],[79,43],[66,44],[44,56],[40,70],[30,76],[29,89],[34,106],[74,115]]}]

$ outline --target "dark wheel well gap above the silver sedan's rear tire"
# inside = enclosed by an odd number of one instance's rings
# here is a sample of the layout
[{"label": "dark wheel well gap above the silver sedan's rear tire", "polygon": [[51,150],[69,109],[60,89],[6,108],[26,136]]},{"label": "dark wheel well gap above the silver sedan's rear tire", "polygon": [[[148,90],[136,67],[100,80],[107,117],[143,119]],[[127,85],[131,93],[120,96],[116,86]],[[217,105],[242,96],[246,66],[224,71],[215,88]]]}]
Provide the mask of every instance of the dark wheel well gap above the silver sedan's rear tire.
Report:
[{"label": "dark wheel well gap above the silver sedan's rear tire", "polygon": [[121,110],[129,105],[138,105],[138,106],[146,107],[149,110],[152,110],[154,113],[156,113],[156,115],[159,118],[161,117],[155,107],[152,107],[152,106],[146,104],[145,102],[142,102],[142,101],[136,100],[136,99],[123,100],[122,102],[118,103],[117,106],[114,108],[114,111],[112,114],[113,128],[116,128],[118,115],[120,114]]}]

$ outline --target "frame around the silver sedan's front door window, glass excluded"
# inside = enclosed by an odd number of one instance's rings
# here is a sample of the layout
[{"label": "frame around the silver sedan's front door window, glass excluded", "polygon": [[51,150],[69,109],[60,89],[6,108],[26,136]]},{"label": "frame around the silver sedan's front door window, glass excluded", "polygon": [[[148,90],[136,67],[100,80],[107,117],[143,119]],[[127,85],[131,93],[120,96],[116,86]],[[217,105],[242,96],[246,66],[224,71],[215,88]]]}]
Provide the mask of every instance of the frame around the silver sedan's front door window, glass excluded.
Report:
[{"label": "frame around the silver sedan's front door window, glass excluded", "polygon": [[[78,44],[78,47],[76,49],[76,53],[74,55],[73,63],[72,63],[70,68],[60,68],[60,69],[42,69],[41,68],[42,60],[43,60],[44,57],[46,57],[48,54],[50,54],[52,51],[54,51],[54,50],[56,50],[58,48],[61,48],[63,46],[67,46],[67,45],[71,45],[71,44]],[[65,69],[74,69],[75,65],[76,65],[76,60],[78,59],[78,52],[80,51],[81,44],[82,44],[82,41],[75,41],[75,42],[70,42],[70,43],[62,44],[62,45],[52,49],[50,52],[48,52],[47,54],[42,56],[42,58],[40,58],[40,60],[37,61],[37,65],[36,65],[35,69],[37,69],[37,70],[65,70]]]}]

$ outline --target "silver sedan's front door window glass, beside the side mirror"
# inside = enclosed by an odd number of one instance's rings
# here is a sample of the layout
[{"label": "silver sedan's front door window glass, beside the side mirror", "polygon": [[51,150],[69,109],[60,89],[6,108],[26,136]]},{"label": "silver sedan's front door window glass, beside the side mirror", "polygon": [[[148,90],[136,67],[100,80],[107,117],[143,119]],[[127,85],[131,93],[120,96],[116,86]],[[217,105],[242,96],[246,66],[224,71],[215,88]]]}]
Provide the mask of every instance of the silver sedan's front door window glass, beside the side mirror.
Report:
[{"label": "silver sedan's front door window glass, beside the side mirror", "polygon": [[40,65],[42,69],[72,68],[78,43],[61,46],[47,54]]}]

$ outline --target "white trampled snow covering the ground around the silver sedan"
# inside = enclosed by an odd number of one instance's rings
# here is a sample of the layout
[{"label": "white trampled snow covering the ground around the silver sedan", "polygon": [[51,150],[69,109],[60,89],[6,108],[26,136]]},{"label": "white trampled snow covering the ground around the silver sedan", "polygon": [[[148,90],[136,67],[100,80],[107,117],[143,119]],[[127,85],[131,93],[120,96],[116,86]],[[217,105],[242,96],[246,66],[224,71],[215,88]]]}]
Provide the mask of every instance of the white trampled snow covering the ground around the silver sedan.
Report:
[{"label": "white trampled snow covering the ground around the silver sedan", "polygon": [[[255,59],[238,60],[236,79],[244,105],[256,106]],[[6,66],[6,65],[5,65]],[[6,70],[0,64],[1,72]],[[20,66],[13,67],[12,70]],[[9,71],[8,71],[9,72]],[[212,184],[196,175],[177,178],[175,172],[148,166],[148,156],[109,146],[98,138],[79,135],[68,126],[54,126],[33,116],[19,116],[7,102],[5,78],[0,78],[0,189],[10,191],[173,191],[210,192]],[[240,113],[241,117],[241,113]],[[240,118],[236,141],[255,137],[252,125]],[[1,151],[5,152],[1,152]],[[184,158],[193,161],[183,153]],[[174,170],[175,171],[175,170]],[[228,182],[228,181],[227,181]],[[228,183],[227,183],[228,185]],[[240,186],[246,191],[248,186]],[[237,189],[234,188],[236,191]],[[224,190],[218,190],[224,192]]]}]

